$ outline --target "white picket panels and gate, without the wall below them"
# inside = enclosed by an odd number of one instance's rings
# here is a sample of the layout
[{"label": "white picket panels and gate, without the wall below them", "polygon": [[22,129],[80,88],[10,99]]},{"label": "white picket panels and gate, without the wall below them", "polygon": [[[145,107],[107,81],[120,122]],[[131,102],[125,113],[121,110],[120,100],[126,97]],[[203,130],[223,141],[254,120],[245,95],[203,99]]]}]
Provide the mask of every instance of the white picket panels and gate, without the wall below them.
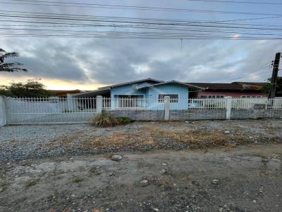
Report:
[{"label": "white picket panels and gate, without the wall below them", "polygon": [[[6,98],[8,124],[86,123],[97,110],[164,110],[156,98]],[[282,110],[282,98],[231,98],[231,110]],[[227,110],[226,98],[169,99],[169,110]],[[3,104],[2,104],[3,105]],[[98,111],[98,112],[99,112]]]}]

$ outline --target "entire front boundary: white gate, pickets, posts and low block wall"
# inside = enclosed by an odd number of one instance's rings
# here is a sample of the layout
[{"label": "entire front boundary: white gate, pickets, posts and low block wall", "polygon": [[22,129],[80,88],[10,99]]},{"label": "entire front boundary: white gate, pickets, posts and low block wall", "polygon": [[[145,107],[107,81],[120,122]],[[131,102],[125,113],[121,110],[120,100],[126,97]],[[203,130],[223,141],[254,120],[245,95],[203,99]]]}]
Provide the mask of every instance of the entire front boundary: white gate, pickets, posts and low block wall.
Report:
[{"label": "entire front boundary: white gate, pickets, posts and low block wall", "polygon": [[0,96],[0,126],[87,123],[102,111],[140,121],[281,118],[282,98],[7,98]]}]

